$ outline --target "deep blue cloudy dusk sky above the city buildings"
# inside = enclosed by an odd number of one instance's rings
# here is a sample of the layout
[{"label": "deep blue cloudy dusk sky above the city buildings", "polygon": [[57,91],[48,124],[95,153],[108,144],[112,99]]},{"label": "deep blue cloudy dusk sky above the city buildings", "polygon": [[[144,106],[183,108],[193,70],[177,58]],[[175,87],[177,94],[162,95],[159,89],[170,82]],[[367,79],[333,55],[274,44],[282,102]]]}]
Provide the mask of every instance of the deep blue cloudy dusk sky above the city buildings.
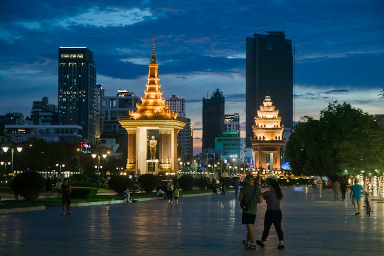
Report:
[{"label": "deep blue cloudy dusk sky above the city buildings", "polygon": [[44,96],[57,104],[60,46],[93,51],[105,96],[119,89],[143,96],[154,35],[163,97],[185,98],[196,154],[202,101],[216,89],[225,97],[225,114],[240,114],[244,137],[245,38],[272,30],[285,31],[295,47],[296,121],[318,118],[336,99],[384,114],[377,96],[384,67],[383,10],[380,1],[6,0],[0,10],[0,115],[30,116],[32,101]]}]

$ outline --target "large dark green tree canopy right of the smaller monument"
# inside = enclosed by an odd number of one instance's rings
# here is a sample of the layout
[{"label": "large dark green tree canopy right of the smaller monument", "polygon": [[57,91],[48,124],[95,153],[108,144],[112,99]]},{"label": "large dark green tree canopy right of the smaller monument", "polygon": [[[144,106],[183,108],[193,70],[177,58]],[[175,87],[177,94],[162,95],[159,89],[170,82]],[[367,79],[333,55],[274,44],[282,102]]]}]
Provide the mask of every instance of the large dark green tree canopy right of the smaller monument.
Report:
[{"label": "large dark green tree canopy right of the smaller monument", "polygon": [[334,101],[319,120],[305,116],[294,126],[286,152],[297,175],[382,172],[384,127],[362,110]]}]

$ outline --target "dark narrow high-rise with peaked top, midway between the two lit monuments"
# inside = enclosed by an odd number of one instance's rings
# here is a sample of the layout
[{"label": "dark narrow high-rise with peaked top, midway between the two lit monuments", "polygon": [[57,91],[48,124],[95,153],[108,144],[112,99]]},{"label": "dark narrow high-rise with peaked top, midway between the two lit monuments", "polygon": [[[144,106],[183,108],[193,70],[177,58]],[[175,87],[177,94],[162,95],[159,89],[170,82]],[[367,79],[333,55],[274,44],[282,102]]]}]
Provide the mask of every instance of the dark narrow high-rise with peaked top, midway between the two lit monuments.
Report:
[{"label": "dark narrow high-rise with peaked top, midway between the two lit monuments", "polygon": [[203,98],[203,147],[215,148],[215,138],[224,131],[224,96],[216,89],[210,99]]}]

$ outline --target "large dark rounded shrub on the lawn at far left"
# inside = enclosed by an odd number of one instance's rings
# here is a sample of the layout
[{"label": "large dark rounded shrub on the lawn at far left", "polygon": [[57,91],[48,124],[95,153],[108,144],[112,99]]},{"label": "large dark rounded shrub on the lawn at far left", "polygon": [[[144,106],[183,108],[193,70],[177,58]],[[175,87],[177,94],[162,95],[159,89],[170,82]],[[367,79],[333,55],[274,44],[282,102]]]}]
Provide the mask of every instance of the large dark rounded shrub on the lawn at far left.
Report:
[{"label": "large dark rounded shrub on the lawn at far left", "polygon": [[28,201],[35,201],[44,186],[44,178],[36,172],[24,172],[13,179],[12,187],[15,195]]}]

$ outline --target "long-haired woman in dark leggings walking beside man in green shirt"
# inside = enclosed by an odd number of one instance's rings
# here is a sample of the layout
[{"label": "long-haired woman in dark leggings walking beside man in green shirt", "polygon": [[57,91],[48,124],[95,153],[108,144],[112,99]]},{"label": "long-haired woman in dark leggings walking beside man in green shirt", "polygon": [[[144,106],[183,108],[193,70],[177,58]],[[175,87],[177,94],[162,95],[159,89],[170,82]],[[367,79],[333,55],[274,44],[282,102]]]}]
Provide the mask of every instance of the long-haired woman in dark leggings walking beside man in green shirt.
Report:
[{"label": "long-haired woman in dark leggings walking beside man in green shirt", "polygon": [[269,229],[271,228],[271,225],[273,223],[274,228],[276,229],[276,232],[278,233],[279,237],[279,249],[284,249],[284,234],[283,230],[281,228],[281,221],[283,218],[280,203],[283,199],[283,192],[281,190],[281,187],[279,183],[275,179],[271,179],[269,181],[269,190],[265,191],[262,194],[262,197],[267,202],[267,210],[265,211],[264,216],[264,230],[263,230],[263,236],[261,240],[256,240],[256,243],[264,247],[264,243],[267,240]]}]

